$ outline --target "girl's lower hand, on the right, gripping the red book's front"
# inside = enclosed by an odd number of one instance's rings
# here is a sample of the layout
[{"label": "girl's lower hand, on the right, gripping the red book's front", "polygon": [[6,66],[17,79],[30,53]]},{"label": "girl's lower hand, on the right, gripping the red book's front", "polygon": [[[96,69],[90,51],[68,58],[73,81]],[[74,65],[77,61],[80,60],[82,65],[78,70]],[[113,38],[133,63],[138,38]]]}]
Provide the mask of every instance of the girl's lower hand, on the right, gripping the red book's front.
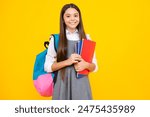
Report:
[{"label": "girl's lower hand, on the right, gripping the red book's front", "polygon": [[84,59],[81,59],[80,62],[74,64],[74,67],[76,71],[82,71],[84,69],[87,69],[88,65],[88,62],[84,61]]}]

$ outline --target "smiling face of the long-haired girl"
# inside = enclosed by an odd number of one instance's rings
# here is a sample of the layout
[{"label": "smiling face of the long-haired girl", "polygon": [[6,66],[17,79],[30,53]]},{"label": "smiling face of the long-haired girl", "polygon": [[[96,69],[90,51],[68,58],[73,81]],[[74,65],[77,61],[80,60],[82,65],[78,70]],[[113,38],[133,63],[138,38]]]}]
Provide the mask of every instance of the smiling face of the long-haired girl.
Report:
[{"label": "smiling face of the long-haired girl", "polygon": [[74,32],[80,22],[79,13],[74,8],[68,8],[63,16],[66,28],[70,32]]}]

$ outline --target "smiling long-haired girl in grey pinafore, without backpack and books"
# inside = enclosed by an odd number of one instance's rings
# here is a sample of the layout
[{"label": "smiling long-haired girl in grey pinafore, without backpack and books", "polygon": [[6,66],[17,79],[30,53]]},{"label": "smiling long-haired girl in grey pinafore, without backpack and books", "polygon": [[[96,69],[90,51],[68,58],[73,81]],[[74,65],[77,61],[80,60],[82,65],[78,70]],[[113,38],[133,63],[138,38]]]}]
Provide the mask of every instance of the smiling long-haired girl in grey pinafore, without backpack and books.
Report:
[{"label": "smiling long-haired girl in grey pinafore, without backpack and books", "polygon": [[59,47],[57,53],[54,49],[54,37],[48,47],[44,69],[47,72],[57,72],[54,86],[53,100],[90,100],[92,99],[88,75],[77,79],[76,72],[88,69],[97,70],[94,55],[92,63],[84,61],[80,55],[74,53],[75,43],[85,35],[82,17],[75,4],[66,4],[60,14]]}]

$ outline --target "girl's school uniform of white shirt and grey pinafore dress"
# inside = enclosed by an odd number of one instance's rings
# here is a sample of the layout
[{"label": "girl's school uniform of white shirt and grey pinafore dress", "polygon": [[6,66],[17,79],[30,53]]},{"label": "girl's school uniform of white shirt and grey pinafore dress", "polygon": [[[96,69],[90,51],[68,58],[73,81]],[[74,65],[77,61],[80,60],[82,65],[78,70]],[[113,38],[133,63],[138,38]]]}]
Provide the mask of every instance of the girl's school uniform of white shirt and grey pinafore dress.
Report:
[{"label": "girl's school uniform of white shirt and grey pinafore dress", "polygon": [[[89,35],[86,35],[87,39],[90,39]],[[69,58],[71,54],[75,52],[75,43],[77,43],[80,38],[78,34],[78,30],[76,29],[75,32],[71,33],[68,30],[66,30],[66,37],[68,40],[68,48],[67,48],[67,57]],[[51,66],[56,61],[56,51],[54,49],[54,37],[51,37],[51,41],[49,43],[45,64],[44,64],[44,70],[46,72],[52,72]],[[97,71],[97,61],[94,54],[93,63],[96,65],[96,69],[94,71]],[[92,93],[89,83],[88,75],[77,78],[77,73],[74,68],[74,65],[65,67],[65,77],[64,80],[62,80],[61,72],[58,70],[57,72],[57,78],[56,83],[54,86],[54,92],[52,99],[53,100],[91,100],[92,99]]]}]

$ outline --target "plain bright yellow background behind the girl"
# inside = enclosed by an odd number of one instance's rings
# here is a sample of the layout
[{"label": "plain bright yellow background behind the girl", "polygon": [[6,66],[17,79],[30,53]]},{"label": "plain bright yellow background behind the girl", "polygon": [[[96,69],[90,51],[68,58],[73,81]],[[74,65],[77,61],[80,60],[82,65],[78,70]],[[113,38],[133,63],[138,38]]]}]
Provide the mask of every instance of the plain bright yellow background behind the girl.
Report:
[{"label": "plain bright yellow background behind the girl", "polygon": [[33,65],[71,2],[97,42],[93,98],[150,99],[149,0],[0,0],[0,99],[51,99],[36,92]]}]

